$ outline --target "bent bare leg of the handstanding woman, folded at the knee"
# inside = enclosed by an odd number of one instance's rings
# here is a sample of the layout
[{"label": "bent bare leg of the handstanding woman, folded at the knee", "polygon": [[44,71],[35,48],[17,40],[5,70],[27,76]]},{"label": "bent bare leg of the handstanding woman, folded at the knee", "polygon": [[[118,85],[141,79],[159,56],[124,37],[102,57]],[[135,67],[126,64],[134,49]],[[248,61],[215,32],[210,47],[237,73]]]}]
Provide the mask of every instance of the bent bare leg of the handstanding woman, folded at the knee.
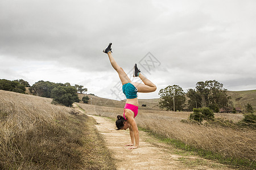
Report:
[{"label": "bent bare leg of the handstanding woman, folded at the knee", "polygon": [[147,93],[147,92],[154,92],[156,91],[156,86],[154,83],[152,83],[150,80],[148,80],[144,75],[142,75],[141,73],[139,73],[139,78],[141,78],[142,83],[137,83],[137,82],[133,82],[131,84],[133,84],[138,92],[142,92],[142,93]]}]

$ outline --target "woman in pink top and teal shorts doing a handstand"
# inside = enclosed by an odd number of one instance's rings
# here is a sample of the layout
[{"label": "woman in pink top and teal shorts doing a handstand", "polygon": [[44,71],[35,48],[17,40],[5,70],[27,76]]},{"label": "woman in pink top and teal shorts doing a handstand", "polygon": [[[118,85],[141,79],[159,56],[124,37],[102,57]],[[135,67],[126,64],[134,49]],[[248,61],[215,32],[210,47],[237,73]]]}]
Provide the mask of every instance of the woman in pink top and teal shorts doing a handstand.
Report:
[{"label": "woman in pink top and teal shorts doing a handstand", "polygon": [[[134,149],[139,147],[139,130],[134,118],[138,114],[138,97],[137,92],[154,92],[156,90],[155,84],[148,80],[141,71],[138,69],[137,64],[134,65],[133,76],[138,76],[141,78],[142,83],[131,82],[129,77],[126,75],[125,71],[115,62],[112,55],[112,43],[109,43],[108,47],[103,50],[104,53],[108,54],[109,60],[115,71],[117,71],[119,78],[122,82],[122,90],[126,96],[126,104],[123,111],[123,116],[117,116],[117,130],[126,130],[129,128],[131,143],[125,146],[131,146],[129,149]],[[135,141],[135,142],[134,142]]]}]

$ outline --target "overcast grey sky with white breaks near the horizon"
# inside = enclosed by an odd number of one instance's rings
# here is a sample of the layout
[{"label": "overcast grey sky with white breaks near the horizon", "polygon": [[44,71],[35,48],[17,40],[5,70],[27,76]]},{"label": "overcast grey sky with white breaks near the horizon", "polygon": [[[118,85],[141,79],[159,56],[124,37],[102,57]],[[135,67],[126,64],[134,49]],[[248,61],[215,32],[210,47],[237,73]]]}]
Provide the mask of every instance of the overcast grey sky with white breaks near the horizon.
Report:
[{"label": "overcast grey sky with white breaks near the horizon", "polygon": [[125,99],[102,53],[113,42],[118,64],[129,73],[138,63],[158,87],[141,99],[174,84],[187,92],[205,80],[255,90],[255,8],[254,0],[1,0],[0,79],[69,82]]}]

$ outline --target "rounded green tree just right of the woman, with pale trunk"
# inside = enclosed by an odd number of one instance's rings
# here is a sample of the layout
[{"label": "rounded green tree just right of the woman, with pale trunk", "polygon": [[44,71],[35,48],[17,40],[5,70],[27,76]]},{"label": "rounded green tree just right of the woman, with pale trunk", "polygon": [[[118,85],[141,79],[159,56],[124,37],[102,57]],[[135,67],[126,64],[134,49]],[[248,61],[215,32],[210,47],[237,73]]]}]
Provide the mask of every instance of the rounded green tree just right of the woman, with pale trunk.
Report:
[{"label": "rounded green tree just right of the woman, with pale trunk", "polygon": [[167,86],[159,91],[159,107],[167,111],[181,111],[185,103],[185,93],[180,86]]}]

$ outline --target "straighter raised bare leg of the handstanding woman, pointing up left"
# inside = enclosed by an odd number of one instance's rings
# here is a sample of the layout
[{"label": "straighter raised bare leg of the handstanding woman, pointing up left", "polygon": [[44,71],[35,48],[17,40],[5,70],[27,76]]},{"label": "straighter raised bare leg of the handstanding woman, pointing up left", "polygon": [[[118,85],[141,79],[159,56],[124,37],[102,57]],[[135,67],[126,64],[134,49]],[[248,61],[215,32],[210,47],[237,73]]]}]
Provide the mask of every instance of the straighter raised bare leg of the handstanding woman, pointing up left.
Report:
[{"label": "straighter raised bare leg of the handstanding woman, pointing up left", "polygon": [[115,69],[115,71],[117,71],[122,84],[130,83],[131,80],[129,79],[129,77],[127,76],[125,71],[123,71],[122,67],[120,67],[117,64],[117,62],[115,61],[115,59],[110,51],[108,52],[108,56],[109,56],[109,61],[112,65],[112,67]]}]

